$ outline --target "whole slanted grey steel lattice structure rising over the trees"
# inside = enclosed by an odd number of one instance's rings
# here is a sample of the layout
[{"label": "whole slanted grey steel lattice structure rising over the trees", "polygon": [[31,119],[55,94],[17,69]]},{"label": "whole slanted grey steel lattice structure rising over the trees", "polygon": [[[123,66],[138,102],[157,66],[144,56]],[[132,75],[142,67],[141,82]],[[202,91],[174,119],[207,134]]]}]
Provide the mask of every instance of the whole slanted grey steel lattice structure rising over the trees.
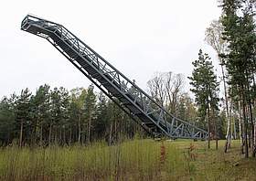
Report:
[{"label": "whole slanted grey steel lattice structure rising over the trees", "polygon": [[166,112],[132,80],[115,69],[66,27],[37,16],[27,15],[21,29],[46,38],[69,61],[145,131],[155,137],[206,140],[208,133]]}]

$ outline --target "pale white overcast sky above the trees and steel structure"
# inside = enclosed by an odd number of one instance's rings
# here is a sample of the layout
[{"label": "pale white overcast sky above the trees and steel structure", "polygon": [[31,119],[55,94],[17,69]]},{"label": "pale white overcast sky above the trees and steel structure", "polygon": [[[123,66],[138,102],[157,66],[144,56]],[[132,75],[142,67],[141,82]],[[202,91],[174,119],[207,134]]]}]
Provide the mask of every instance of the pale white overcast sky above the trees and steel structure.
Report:
[{"label": "pale white overcast sky above the trees and steel structure", "polygon": [[0,98],[44,83],[91,84],[43,38],[20,30],[27,14],[62,24],[143,89],[156,71],[190,76],[217,0],[5,0],[0,6]]}]

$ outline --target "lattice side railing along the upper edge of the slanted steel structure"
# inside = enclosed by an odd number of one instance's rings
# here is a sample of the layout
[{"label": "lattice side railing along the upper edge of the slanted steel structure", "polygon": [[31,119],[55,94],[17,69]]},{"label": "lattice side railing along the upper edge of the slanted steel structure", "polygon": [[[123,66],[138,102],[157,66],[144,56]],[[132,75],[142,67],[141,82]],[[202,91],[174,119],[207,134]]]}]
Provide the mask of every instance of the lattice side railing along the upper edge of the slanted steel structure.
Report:
[{"label": "lattice side railing along the upper edge of the slanted steel structure", "polygon": [[[75,51],[77,51],[80,55],[85,56],[88,60],[90,59],[91,66],[94,66],[94,69],[100,70],[103,75],[107,74],[109,78],[111,78],[115,83],[115,85],[118,85],[118,89],[126,94],[133,96],[133,100],[139,103],[138,105],[140,105],[139,107],[142,110],[145,110],[145,107],[147,106],[146,108],[150,109],[147,112],[147,115],[156,116],[155,119],[158,123],[161,122],[163,125],[168,127],[168,129],[170,129],[174,128],[173,122],[176,121],[186,124],[190,128],[196,129],[197,132],[208,134],[206,131],[198,128],[196,125],[183,121],[172,113],[167,112],[159,103],[157,103],[151,96],[140,89],[132,80],[129,80],[118,69],[115,69],[112,64],[110,64],[106,59],[103,59],[101,55],[99,55],[87,44],[81,41],[79,37],[76,37],[74,34],[72,34],[66,27],[37,16],[27,15],[21,23],[21,28],[23,30],[27,30],[29,26],[45,28],[46,31],[55,33],[59,36],[59,38],[63,38],[63,40],[68,43],[68,45],[70,45],[70,48],[75,49]],[[39,35],[40,32],[33,33]],[[166,117],[171,118],[172,124],[168,122]],[[172,132],[172,130],[168,132]]]}]

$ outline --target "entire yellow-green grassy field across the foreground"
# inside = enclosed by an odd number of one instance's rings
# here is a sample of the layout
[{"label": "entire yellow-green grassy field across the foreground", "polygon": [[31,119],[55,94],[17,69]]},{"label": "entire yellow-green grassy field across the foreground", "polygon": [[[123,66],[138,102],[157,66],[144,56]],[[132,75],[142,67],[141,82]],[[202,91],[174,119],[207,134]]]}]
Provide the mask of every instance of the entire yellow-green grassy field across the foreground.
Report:
[{"label": "entire yellow-green grassy field across the foreground", "polygon": [[205,142],[134,140],[107,146],[0,150],[0,180],[256,180],[256,159],[239,142],[228,154]]}]

